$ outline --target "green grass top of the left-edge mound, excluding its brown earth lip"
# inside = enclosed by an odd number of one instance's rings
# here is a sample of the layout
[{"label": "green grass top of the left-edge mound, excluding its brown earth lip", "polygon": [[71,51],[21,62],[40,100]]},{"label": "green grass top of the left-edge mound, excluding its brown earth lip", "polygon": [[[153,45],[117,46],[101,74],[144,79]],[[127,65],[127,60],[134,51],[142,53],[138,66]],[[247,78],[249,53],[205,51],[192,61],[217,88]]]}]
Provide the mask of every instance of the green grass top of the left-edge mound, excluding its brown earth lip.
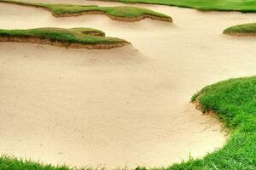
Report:
[{"label": "green grass top of the left-edge mound, excluding its brown earth lip", "polygon": [[[98,34],[98,36],[95,36]],[[113,44],[125,40],[104,37],[104,32],[91,28],[36,28],[28,30],[3,30],[0,37],[39,37],[51,42],[80,43],[80,44]]]}]

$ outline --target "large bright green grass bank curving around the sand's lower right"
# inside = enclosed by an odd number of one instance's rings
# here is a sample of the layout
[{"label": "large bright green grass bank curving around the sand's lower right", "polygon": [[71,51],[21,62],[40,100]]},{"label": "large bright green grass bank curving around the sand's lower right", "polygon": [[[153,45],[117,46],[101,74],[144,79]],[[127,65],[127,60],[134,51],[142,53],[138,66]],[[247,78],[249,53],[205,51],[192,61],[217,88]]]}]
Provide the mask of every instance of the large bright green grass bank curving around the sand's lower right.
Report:
[{"label": "large bright green grass bank curving around the sand's lower right", "polygon": [[256,169],[255,97],[256,77],[231,78],[201,89],[191,101],[203,113],[214,112],[229,129],[230,138],[202,159],[157,169]]}]

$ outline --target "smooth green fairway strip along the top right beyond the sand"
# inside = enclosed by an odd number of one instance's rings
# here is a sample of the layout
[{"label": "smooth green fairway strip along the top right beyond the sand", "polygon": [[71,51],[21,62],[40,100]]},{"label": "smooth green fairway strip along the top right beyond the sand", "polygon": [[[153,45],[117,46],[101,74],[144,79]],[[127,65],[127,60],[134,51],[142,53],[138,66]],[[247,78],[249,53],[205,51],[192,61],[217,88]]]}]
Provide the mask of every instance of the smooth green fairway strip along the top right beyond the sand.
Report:
[{"label": "smooth green fairway strip along the top right beyond the sand", "polygon": [[152,3],[200,10],[256,12],[255,0],[110,0],[121,3]]}]

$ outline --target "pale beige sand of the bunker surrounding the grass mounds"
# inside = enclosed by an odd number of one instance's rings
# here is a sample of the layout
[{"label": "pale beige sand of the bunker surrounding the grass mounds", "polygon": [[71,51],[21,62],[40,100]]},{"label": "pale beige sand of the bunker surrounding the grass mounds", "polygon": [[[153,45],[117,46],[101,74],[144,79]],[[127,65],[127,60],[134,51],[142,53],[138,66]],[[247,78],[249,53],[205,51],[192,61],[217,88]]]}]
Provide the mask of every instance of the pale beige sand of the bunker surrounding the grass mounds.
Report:
[{"label": "pale beige sand of the bunker surrounding the grass mounds", "polygon": [[1,28],[88,26],[136,48],[0,43],[1,153],[79,167],[154,167],[224,144],[218,121],[189,100],[207,84],[255,74],[255,38],[221,32],[255,21],[256,14],[137,6],[169,14],[175,24],[124,23],[102,15],[55,18],[0,3]]}]

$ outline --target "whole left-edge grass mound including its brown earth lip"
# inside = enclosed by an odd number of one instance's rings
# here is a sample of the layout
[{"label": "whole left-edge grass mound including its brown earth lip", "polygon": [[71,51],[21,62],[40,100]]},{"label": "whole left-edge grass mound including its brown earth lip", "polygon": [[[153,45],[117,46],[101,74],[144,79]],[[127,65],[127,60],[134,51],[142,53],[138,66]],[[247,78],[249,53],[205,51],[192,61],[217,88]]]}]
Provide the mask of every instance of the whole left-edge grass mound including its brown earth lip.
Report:
[{"label": "whole left-edge grass mound including its brown earth lip", "polygon": [[0,29],[0,42],[32,42],[67,48],[118,48],[130,44],[125,40],[104,37],[91,28],[36,28],[28,30]]}]

